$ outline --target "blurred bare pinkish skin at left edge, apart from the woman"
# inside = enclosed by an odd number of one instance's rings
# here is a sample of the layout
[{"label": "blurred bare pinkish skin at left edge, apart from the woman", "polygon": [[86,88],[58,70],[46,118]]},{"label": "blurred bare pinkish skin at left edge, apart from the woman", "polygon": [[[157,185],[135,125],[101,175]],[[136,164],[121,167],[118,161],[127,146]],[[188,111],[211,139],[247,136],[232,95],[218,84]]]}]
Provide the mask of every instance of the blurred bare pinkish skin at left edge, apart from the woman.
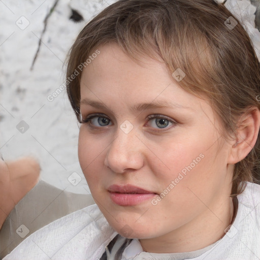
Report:
[{"label": "blurred bare pinkish skin at left edge, apart from the woman", "polygon": [[40,165],[30,157],[0,159],[0,229],[15,205],[39,181]]}]

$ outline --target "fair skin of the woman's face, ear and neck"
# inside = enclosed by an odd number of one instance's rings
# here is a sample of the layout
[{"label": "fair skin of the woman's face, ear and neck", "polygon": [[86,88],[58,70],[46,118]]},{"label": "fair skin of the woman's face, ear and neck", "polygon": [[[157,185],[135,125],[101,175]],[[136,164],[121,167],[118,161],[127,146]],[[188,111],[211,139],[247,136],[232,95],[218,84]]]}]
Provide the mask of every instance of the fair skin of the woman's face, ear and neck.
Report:
[{"label": "fair skin of the woman's face, ear and neck", "polygon": [[[184,91],[163,63],[144,56],[138,64],[116,44],[99,50],[101,55],[83,71],[81,101],[102,102],[106,108],[81,104],[83,119],[103,115],[93,118],[92,125],[81,124],[78,143],[80,165],[96,204],[115,231],[125,236],[128,225],[127,237],[138,238],[147,252],[194,251],[219,240],[233,217],[229,195],[234,164],[250,149],[238,153],[241,144],[234,146],[236,138],[225,141],[211,106]],[[130,109],[154,100],[186,108]],[[259,111],[255,113],[254,129],[259,129]],[[147,118],[154,114],[176,123],[162,128],[155,118]],[[99,117],[107,123],[102,125]],[[120,129],[125,120],[134,126],[128,134]],[[255,136],[248,141],[251,145]],[[200,154],[204,158],[157,205],[149,199],[119,206],[110,199],[107,189],[112,184],[132,184],[160,194]]]}]

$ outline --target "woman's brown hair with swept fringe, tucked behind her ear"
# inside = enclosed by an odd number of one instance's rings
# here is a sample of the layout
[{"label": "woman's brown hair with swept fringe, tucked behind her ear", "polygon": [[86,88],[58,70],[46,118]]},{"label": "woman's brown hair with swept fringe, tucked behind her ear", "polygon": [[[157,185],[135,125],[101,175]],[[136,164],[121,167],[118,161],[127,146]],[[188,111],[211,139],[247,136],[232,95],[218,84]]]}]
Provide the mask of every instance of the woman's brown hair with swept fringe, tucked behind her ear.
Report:
[{"label": "woman's brown hair with swept fringe, tucked behind her ear", "polygon": [[[239,117],[260,109],[260,66],[242,25],[228,27],[232,16],[213,0],[120,0],[82,29],[68,55],[67,77],[98,46],[115,42],[130,57],[142,54],[163,61],[186,91],[203,94],[221,118],[224,135],[236,133]],[[228,20],[229,21],[229,20]],[[80,78],[67,81],[70,103],[80,121]],[[235,165],[231,196],[243,192],[246,181],[259,180],[259,134],[250,153]]]}]

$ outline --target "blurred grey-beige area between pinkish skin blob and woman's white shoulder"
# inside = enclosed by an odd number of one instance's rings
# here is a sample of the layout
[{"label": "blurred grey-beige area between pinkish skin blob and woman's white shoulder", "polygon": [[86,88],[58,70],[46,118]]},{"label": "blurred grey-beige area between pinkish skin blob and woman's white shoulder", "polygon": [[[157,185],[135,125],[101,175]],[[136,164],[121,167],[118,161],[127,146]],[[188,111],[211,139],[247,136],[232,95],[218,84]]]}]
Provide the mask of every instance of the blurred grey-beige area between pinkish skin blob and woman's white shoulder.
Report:
[{"label": "blurred grey-beige area between pinkish skin blob and woman's white shoulder", "polygon": [[4,222],[0,230],[0,259],[43,226],[92,204],[90,194],[72,193],[40,180]]}]

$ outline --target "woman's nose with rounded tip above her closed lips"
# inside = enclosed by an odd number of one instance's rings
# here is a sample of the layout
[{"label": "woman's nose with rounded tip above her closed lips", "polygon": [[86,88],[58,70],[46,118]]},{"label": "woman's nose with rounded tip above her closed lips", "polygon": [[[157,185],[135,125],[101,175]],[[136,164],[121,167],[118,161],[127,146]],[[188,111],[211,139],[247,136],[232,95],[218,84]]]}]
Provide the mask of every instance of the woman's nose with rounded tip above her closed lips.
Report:
[{"label": "woman's nose with rounded tip above her closed lips", "polygon": [[138,170],[143,167],[143,143],[136,136],[134,129],[125,134],[120,128],[110,144],[104,164],[115,173]]}]

